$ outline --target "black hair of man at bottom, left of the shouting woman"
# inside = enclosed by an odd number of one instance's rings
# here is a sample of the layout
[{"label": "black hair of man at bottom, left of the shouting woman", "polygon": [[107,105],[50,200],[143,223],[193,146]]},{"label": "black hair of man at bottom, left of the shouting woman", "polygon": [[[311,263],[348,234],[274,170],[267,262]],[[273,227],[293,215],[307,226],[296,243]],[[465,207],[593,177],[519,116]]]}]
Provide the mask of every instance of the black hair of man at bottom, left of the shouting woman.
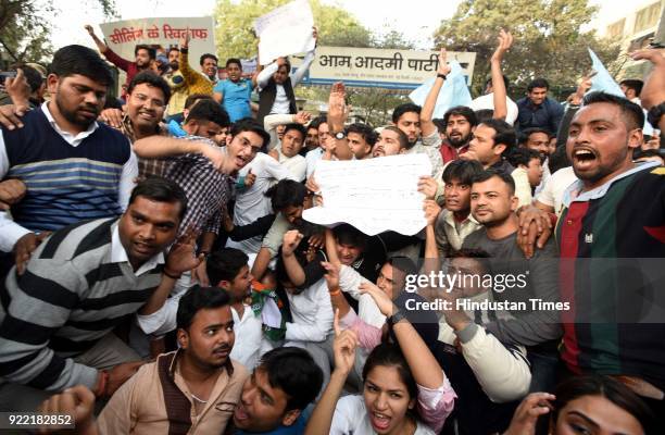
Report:
[{"label": "black hair of man at bottom, left of the shouting woman", "polygon": [[305,409],[323,385],[323,371],[306,350],[298,347],[278,347],[264,353],[255,370],[265,371],[271,386],[287,395],[285,411]]}]

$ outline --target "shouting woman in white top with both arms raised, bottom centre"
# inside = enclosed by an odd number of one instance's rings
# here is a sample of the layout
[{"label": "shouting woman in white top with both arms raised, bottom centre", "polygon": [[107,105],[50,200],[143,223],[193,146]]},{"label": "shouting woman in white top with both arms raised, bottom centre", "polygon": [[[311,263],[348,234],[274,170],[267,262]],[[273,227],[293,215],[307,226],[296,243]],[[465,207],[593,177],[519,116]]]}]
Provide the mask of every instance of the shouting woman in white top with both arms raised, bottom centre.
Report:
[{"label": "shouting woman in white top with both arms raised, bottom centre", "polygon": [[340,331],[335,315],[335,370],[308,422],[306,435],[438,433],[453,409],[455,394],[416,330],[378,287],[363,286],[390,316],[398,344],[381,344],[367,357],[362,396],[339,399],[353,368],[357,335]]}]

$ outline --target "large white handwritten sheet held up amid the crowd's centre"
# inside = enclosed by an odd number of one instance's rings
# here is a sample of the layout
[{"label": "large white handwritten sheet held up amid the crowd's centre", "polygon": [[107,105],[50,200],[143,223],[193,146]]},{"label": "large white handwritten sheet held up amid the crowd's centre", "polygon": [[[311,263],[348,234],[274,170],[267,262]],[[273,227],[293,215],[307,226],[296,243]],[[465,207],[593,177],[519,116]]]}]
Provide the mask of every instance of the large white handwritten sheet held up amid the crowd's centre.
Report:
[{"label": "large white handwritten sheet held up amid the crowd's centre", "polygon": [[389,229],[414,235],[427,224],[418,178],[430,174],[427,154],[322,160],[314,178],[324,203],[305,210],[302,217],[326,226],[349,223],[369,236]]}]

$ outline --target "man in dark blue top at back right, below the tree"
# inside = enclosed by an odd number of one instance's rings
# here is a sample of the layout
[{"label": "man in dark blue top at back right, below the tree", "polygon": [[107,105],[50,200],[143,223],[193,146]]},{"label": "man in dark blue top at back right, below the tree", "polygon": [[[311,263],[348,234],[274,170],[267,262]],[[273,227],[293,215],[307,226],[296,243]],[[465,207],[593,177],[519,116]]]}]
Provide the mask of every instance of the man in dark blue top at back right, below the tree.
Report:
[{"label": "man in dark blue top at back right, below the tree", "polygon": [[516,128],[544,128],[551,134],[556,134],[563,117],[563,107],[548,97],[550,84],[544,78],[536,78],[527,87],[527,96],[517,100]]}]

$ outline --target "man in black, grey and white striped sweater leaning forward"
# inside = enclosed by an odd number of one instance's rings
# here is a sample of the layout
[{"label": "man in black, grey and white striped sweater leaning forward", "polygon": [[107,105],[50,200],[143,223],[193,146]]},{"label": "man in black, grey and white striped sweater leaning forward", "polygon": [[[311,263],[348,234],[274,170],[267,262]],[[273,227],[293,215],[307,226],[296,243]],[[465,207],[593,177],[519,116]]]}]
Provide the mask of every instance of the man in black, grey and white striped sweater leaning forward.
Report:
[{"label": "man in black, grey and white striped sweater leaning forward", "polygon": [[[193,237],[174,243],[187,211],[183,189],[149,178],[120,219],[62,228],[0,285],[0,409],[34,410],[84,384],[110,396],[141,364],[113,328],[201,261]],[[134,362],[129,362],[134,361]]]}]

